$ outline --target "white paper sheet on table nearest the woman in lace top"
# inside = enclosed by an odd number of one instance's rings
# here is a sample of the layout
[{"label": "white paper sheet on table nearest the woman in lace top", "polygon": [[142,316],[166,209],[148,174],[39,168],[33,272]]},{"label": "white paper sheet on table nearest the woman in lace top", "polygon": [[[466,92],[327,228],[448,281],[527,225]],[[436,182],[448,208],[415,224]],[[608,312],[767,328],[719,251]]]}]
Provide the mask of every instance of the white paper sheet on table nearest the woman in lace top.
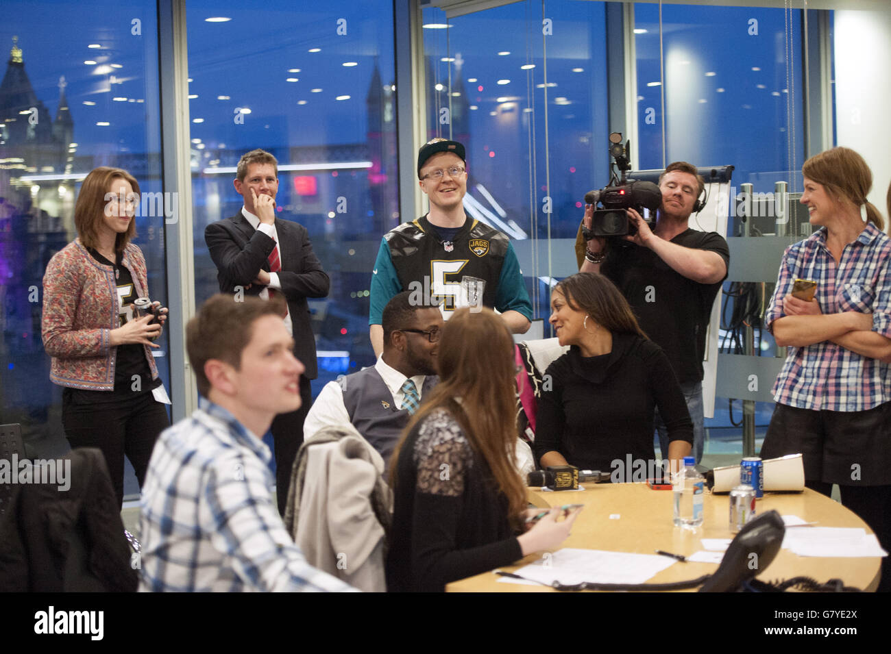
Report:
[{"label": "white paper sheet on table nearest the woman in lace top", "polygon": [[[538,561],[517,570],[516,574],[547,585],[555,580],[562,584],[579,584],[583,581],[601,584],[643,584],[650,577],[677,562],[679,561],[658,554],[604,552],[566,547],[558,552],[545,554]],[[506,577],[500,578],[499,581],[538,585]]]}]

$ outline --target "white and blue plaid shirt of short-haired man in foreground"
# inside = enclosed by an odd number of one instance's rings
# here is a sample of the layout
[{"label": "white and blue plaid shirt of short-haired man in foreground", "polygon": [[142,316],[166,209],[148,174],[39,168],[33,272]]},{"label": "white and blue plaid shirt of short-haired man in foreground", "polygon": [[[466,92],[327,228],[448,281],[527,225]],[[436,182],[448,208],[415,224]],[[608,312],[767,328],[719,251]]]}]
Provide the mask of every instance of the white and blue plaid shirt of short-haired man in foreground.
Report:
[{"label": "white and blue plaid shirt of short-haired man in foreground", "polygon": [[269,460],[261,440],[206,400],[160,435],[143,487],[140,590],[353,590],[294,545]]}]

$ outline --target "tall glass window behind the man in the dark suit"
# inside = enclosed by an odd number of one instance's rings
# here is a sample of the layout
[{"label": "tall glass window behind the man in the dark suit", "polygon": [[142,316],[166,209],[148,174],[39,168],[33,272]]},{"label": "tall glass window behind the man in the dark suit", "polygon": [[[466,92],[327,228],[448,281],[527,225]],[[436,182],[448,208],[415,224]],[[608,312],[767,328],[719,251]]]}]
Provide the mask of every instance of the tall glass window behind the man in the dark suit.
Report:
[{"label": "tall glass window behind the man in the dark suit", "polygon": [[279,162],[279,215],[304,225],[331,277],[311,300],[317,394],[371,365],[369,287],[380,236],[400,222],[393,11],[359,0],[187,4],[196,303],[217,293],[204,230],[242,206],[251,149]]}]

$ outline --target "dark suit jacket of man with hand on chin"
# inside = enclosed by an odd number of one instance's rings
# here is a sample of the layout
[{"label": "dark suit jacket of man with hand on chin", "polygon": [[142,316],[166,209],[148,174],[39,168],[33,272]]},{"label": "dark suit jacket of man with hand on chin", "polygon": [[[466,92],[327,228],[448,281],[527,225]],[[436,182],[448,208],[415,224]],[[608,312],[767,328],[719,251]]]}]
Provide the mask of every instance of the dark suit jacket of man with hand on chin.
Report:
[{"label": "dark suit jacket of man with hand on chin", "polygon": [[[294,327],[294,356],[307,368],[304,373],[307,379],[315,379],[318,376],[315,336],[309,324],[307,297],[328,295],[331,279],[313,252],[306,227],[276,218],[275,230],[282,257],[282,270],[278,276]],[[217,266],[221,293],[234,293],[237,286],[248,287],[261,268],[269,271],[267,257],[272,254],[275,241],[251,227],[241,210],[232,218],[211,222],[204,230],[204,240],[210,258]],[[244,293],[259,295],[263,288],[254,284]]]}]

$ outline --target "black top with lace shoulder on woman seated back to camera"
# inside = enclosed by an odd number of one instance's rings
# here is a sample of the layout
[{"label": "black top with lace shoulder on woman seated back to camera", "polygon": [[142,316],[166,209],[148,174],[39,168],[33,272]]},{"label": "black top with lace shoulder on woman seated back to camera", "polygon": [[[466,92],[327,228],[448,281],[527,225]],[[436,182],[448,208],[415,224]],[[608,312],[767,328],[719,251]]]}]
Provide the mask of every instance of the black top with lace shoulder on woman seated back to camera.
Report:
[{"label": "black top with lace shoulder on woman seated back to camera", "polygon": [[446,409],[416,424],[396,462],[389,591],[443,591],[450,581],[522,557],[508,502]]}]

